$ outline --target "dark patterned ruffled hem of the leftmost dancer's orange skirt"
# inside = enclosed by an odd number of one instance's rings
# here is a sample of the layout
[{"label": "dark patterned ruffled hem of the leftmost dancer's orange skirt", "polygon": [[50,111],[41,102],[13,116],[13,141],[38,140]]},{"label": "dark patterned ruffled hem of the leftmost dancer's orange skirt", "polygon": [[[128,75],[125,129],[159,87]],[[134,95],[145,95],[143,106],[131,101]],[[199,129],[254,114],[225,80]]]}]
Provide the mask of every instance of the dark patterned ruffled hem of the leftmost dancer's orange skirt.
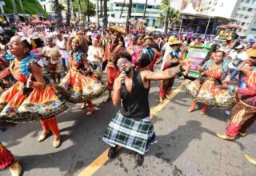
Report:
[{"label": "dark patterned ruffled hem of the leftmost dancer's orange skirt", "polygon": [[65,102],[62,102],[60,106],[58,106],[57,110],[47,110],[45,113],[34,113],[31,111],[26,112],[17,112],[16,113],[10,113],[6,115],[2,115],[0,117],[0,122],[30,122],[39,120],[40,118],[50,118],[52,116],[57,116],[58,114],[61,114],[63,111],[67,110],[68,106],[66,106]]}]

